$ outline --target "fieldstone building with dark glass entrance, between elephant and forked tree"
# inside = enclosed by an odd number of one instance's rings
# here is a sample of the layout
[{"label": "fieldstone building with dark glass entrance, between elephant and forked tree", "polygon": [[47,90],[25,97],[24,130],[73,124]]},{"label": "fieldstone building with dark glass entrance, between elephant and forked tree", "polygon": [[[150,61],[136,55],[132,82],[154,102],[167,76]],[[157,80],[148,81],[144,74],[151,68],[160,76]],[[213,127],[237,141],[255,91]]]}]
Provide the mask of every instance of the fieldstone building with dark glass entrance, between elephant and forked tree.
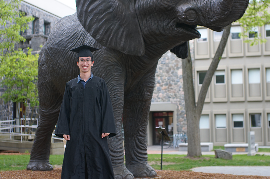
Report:
[{"label": "fieldstone building with dark glass entrance, between elephant and forked tree", "polygon": [[[193,40],[189,42],[193,61]],[[193,61],[194,62],[194,61]],[[159,145],[155,127],[165,127],[170,135],[187,132],[182,79],[182,59],[170,51],[158,60],[156,83],[147,126],[147,144]]]}]

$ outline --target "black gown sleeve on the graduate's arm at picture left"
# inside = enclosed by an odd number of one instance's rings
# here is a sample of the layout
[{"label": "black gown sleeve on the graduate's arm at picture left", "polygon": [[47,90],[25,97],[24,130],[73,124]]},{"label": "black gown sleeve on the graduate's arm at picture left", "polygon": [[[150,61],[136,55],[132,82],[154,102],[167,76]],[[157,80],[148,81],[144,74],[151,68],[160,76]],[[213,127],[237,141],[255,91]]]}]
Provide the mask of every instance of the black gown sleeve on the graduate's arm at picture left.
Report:
[{"label": "black gown sleeve on the graduate's arm at picture left", "polygon": [[60,113],[55,129],[55,135],[58,137],[62,137],[63,135],[70,135],[69,132],[69,119],[70,119],[70,88],[66,83],[66,89],[63,96],[63,101],[60,108]]}]

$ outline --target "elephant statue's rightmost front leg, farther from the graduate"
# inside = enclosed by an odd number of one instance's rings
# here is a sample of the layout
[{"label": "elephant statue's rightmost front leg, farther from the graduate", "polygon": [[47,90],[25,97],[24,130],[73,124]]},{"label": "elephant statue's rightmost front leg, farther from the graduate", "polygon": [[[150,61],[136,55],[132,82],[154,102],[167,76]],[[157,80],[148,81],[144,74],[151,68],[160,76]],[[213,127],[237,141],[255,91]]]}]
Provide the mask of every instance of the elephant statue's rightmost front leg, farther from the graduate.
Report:
[{"label": "elephant statue's rightmost front leg, farther from the graduate", "polygon": [[125,132],[126,168],[134,177],[155,177],[147,163],[147,123],[154,90],[154,71],[125,95],[123,124]]}]

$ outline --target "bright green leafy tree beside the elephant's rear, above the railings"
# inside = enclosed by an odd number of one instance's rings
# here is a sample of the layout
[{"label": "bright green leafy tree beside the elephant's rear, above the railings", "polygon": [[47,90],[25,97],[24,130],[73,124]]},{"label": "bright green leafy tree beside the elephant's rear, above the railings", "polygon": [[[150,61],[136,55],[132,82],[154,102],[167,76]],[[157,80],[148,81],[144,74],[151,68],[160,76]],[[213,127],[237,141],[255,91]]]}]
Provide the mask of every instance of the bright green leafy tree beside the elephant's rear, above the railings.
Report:
[{"label": "bright green leafy tree beside the elephant's rear, above the railings", "polygon": [[[32,49],[28,49],[27,55],[21,49],[13,51],[12,55],[8,56],[0,67],[0,74],[3,77],[1,84],[5,89],[1,97],[5,102],[15,102],[18,111],[19,103],[23,103],[25,106],[29,103],[32,109],[39,104],[37,93],[38,54],[32,55],[31,51]],[[25,113],[24,116],[26,116]]]}]

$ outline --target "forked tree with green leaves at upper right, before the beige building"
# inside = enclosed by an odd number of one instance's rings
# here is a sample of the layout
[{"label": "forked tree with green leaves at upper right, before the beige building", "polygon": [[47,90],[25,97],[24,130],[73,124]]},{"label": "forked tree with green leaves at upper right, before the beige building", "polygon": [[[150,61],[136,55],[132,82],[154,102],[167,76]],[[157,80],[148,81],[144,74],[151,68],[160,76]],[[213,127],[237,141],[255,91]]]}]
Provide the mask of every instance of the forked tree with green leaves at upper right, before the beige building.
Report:
[{"label": "forked tree with green leaves at upper right, before the beige building", "polygon": [[[250,0],[246,12],[243,17],[238,20],[244,29],[240,35],[243,38],[247,37],[248,33],[254,34],[254,39],[246,39],[244,42],[249,43],[251,46],[258,43],[265,42],[265,39],[260,38],[260,34],[254,31],[254,27],[261,27],[265,24],[270,23],[270,14],[268,13],[270,1],[269,0]],[[200,146],[200,130],[199,130],[199,120],[202,114],[202,108],[204,105],[205,97],[209,85],[211,83],[213,74],[216,71],[218,63],[220,62],[221,56],[223,54],[224,48],[227,43],[227,39],[230,34],[231,24],[225,27],[223,35],[216,50],[215,56],[209,66],[206,76],[202,83],[202,87],[199,93],[197,105],[195,102],[195,92],[193,85],[192,76],[192,61],[189,56],[186,59],[182,59],[182,69],[183,69],[183,88],[185,94],[185,111],[187,117],[187,127],[188,127],[188,156],[201,156],[201,146]]]}]

